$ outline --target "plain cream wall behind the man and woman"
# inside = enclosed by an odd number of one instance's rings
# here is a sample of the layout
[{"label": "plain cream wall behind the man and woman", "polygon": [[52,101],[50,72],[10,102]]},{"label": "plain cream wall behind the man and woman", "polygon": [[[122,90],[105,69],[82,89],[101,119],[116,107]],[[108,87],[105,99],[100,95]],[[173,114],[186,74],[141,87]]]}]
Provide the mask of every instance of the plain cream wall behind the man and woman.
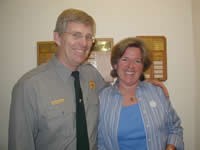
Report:
[{"label": "plain cream wall behind the man and woman", "polygon": [[[195,150],[195,51],[192,0],[0,0],[0,149],[7,149],[12,86],[36,66],[36,42],[52,40],[58,14],[70,7],[91,14],[97,37],[164,35],[167,38],[166,85],[182,119],[186,150]],[[197,149],[196,149],[197,150]]]}]

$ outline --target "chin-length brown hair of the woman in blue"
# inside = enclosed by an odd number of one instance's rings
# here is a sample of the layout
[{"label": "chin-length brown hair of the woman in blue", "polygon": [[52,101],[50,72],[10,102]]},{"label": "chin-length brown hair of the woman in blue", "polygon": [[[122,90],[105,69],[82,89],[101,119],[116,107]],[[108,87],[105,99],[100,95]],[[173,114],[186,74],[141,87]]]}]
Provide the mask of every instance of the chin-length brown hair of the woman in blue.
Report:
[{"label": "chin-length brown hair of the woman in blue", "polygon": [[[143,72],[146,71],[151,66],[152,61],[150,59],[149,50],[144,44],[144,42],[135,37],[125,38],[119,41],[117,44],[115,44],[112,48],[111,52],[111,65],[113,68],[111,70],[112,77],[118,77],[117,71],[114,68],[114,66],[118,63],[119,59],[123,56],[126,49],[129,47],[136,47],[140,49],[142,54],[142,62],[144,65]],[[141,75],[140,80],[144,80],[144,74]]]}]

